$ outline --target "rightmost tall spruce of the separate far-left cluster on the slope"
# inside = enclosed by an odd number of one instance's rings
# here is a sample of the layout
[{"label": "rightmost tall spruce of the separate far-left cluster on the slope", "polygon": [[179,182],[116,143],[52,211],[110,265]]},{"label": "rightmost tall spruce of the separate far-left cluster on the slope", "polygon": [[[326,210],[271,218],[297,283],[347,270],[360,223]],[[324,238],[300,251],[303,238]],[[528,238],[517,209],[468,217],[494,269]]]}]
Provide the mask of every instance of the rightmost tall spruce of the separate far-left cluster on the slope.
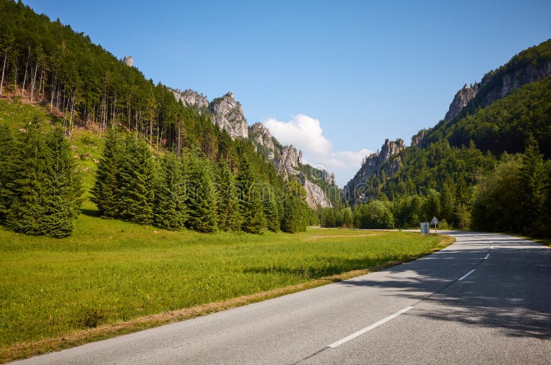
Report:
[{"label": "rightmost tall spruce of the separate far-left cluster on the slope", "polygon": [[61,127],[47,135],[46,146],[48,176],[43,182],[45,194],[39,199],[44,207],[39,222],[45,235],[62,238],[72,233],[74,220],[80,213],[81,181]]}]

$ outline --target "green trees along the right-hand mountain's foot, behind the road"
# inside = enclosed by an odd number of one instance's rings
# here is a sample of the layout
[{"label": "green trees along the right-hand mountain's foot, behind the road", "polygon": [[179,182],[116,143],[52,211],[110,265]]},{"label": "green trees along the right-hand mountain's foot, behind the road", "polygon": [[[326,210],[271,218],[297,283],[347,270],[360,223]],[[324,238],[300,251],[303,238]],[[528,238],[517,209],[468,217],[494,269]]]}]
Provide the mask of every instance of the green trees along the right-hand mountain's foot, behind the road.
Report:
[{"label": "green trees along the right-hand mountain's foot, behind the road", "polygon": [[[433,147],[424,152],[434,156]],[[468,149],[471,151],[468,152]],[[437,180],[427,189],[417,194],[417,190],[396,195],[392,200],[386,196],[385,189],[393,184],[393,179],[385,178],[386,183],[375,176],[371,187],[377,195],[369,196],[369,201],[340,209],[321,209],[318,211],[322,227],[357,227],[365,229],[418,228],[420,222],[430,222],[433,216],[439,218],[442,228],[476,229],[480,231],[498,231],[523,233],[531,236],[551,236],[551,160],[545,160],[539,152],[537,140],[533,137],[526,141],[523,154],[503,154],[499,160],[484,155],[474,147],[465,149],[470,156],[478,156],[481,161],[491,163],[470,165],[464,160],[453,159],[456,164],[478,166],[479,170],[472,178],[474,182],[462,177],[466,171],[453,169],[458,178],[444,178],[441,184]],[[448,146],[444,151],[451,151]],[[456,149],[455,152],[459,150]],[[465,152],[464,151],[464,152]],[[440,167],[446,165],[448,154],[440,154],[437,160]],[[440,165],[442,164],[442,165]],[[406,167],[407,168],[410,168]],[[424,169],[417,170],[423,178]],[[434,172],[434,169],[429,171]],[[447,169],[441,169],[441,176]],[[419,176],[421,175],[421,176]],[[435,173],[433,178],[438,178]],[[426,186],[425,185],[425,186]],[[415,188],[415,184],[412,183]],[[373,194],[373,192],[372,192]]]}]

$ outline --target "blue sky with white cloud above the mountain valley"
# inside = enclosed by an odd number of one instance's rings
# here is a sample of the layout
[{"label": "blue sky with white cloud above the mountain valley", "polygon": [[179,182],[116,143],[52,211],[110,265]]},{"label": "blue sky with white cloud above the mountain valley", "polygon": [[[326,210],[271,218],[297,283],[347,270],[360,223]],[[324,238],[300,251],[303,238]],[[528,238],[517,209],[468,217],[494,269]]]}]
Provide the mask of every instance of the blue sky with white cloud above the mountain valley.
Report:
[{"label": "blue sky with white cloud above the mountain valley", "polygon": [[231,90],[346,183],[362,154],[444,117],[464,83],[551,38],[551,1],[25,0],[155,82]]}]

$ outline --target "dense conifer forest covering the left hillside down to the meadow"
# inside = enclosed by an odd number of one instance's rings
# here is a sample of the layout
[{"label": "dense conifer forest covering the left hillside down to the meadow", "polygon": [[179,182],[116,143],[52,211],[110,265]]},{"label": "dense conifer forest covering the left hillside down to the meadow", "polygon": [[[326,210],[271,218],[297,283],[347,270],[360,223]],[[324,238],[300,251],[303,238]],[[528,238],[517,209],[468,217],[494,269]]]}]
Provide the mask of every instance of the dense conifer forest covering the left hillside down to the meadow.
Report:
[{"label": "dense conifer forest covering the left hillside down to the meadow", "polygon": [[[25,98],[61,116],[58,137],[81,125],[106,138],[92,189],[102,216],[204,232],[296,232],[310,222],[304,189],[285,183],[249,140],[232,140],[211,123],[207,110],[178,103],[168,87],[154,85],[59,19],[52,22],[20,1],[0,0],[0,53],[0,96]],[[25,138],[28,131],[2,138],[3,156],[25,158],[25,148],[32,148]],[[41,203],[48,189],[33,190],[36,199],[25,192],[51,180],[43,158],[35,156],[34,163],[35,175],[26,180],[10,174],[8,163],[1,165],[0,224],[32,235],[67,236],[79,196],[65,202],[70,213],[62,233],[23,227],[10,215],[21,211],[14,196],[27,199],[32,209],[50,209]]]}]

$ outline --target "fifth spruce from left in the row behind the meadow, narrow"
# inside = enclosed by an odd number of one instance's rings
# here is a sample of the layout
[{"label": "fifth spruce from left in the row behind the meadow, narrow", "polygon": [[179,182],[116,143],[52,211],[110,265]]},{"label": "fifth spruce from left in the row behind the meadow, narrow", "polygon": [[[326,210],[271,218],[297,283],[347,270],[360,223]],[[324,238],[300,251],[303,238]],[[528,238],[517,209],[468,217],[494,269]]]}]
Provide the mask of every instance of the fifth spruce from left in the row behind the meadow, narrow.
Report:
[{"label": "fifth spruce from left in the row behind the meadow, narrow", "polygon": [[238,231],[241,228],[241,215],[235,178],[224,160],[220,160],[217,170],[218,227],[222,231]]}]

